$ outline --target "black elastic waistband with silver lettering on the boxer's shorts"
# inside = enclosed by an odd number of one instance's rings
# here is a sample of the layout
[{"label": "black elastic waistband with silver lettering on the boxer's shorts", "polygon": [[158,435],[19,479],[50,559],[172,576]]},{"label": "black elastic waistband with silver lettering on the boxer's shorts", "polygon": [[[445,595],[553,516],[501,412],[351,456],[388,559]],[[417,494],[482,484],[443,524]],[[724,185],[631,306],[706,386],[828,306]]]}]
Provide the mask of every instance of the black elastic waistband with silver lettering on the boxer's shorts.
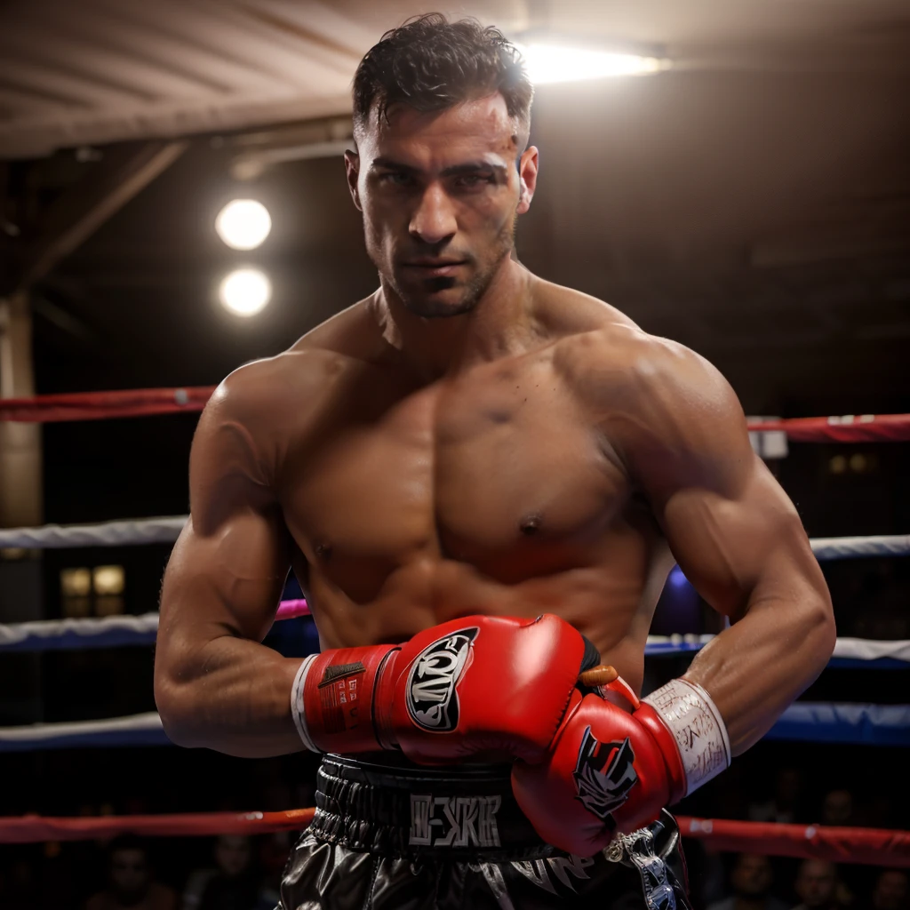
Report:
[{"label": "black elastic waistband with silver lettering on the boxer's shorts", "polygon": [[516,803],[508,765],[424,768],[325,755],[309,833],[399,856],[509,862],[555,853]]}]

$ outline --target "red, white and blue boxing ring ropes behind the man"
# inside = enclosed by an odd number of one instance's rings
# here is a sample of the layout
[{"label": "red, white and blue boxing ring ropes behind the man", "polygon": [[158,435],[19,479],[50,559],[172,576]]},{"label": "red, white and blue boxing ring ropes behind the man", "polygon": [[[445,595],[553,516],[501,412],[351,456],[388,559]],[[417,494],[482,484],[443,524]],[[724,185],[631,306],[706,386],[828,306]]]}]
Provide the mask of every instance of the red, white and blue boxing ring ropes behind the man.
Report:
[{"label": "red, white and blue boxing ring ropes behind the man", "polygon": [[[200,411],[213,390],[142,389],[2,399],[0,420],[54,422]],[[787,440],[794,442],[910,441],[910,414],[751,420],[749,430],[756,434],[784,434]],[[45,550],[173,543],[186,521],[187,516],[171,516],[3,529],[0,530],[0,549]],[[811,542],[819,561],[910,555],[910,534],[822,538]],[[305,601],[284,600],[278,607],[276,621],[307,614]],[[148,646],[155,642],[157,621],[157,612],[153,612],[140,616],[0,625],[0,660],[4,652]],[[651,660],[659,660],[696,652],[711,637],[649,636],[645,655]],[[910,641],[838,638],[829,666],[910,671]],[[784,712],[765,738],[906,747],[910,746],[910,704],[796,702]],[[167,745],[169,741],[157,713],[104,721],[0,727],[0,752]],[[304,808],[271,813],[0,817],[0,843],[96,839],[124,832],[149,836],[265,834],[305,828],[313,813],[313,808]],[[679,816],[678,822],[683,836],[700,839],[717,850],[817,858],[835,863],[910,867],[910,833],[905,831],[688,816]]]}]

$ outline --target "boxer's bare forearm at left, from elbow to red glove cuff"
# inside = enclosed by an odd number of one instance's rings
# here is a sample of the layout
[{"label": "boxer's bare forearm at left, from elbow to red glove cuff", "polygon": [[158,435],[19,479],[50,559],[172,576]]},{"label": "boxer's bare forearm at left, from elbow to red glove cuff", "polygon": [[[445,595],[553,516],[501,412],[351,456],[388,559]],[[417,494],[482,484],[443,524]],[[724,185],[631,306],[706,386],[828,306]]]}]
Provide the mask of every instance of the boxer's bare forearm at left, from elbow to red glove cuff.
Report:
[{"label": "boxer's bare forearm at left, from elbow to red glove cuff", "polygon": [[186,659],[172,649],[156,662],[155,698],[171,740],[244,758],[303,748],[290,711],[299,659],[232,635],[180,651]]}]

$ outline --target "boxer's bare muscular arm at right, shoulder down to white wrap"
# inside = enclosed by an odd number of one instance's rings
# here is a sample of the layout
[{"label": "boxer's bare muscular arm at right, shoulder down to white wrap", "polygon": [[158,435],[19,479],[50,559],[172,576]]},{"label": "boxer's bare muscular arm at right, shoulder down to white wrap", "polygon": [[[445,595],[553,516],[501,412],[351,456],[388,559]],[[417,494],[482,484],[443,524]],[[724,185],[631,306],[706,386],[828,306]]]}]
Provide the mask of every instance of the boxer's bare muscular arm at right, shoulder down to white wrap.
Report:
[{"label": "boxer's bare muscular arm at right, shoulder down to white wrap", "polygon": [[711,694],[733,754],[824,668],[834,615],[793,503],[754,454],[733,389],[691,351],[651,339],[633,406],[609,435],[686,577],[733,623],[686,677]]}]

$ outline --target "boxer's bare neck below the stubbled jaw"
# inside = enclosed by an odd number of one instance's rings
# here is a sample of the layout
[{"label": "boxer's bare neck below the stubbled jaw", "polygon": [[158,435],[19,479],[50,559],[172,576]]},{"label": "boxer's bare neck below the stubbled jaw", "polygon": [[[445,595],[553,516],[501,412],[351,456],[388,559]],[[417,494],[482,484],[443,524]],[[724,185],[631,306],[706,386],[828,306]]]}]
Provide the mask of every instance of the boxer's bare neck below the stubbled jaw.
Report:
[{"label": "boxer's bare neck below the stubbled jaw", "polygon": [[470,312],[425,319],[411,313],[383,281],[371,308],[383,337],[425,381],[526,349],[531,337],[531,273],[503,260]]}]

